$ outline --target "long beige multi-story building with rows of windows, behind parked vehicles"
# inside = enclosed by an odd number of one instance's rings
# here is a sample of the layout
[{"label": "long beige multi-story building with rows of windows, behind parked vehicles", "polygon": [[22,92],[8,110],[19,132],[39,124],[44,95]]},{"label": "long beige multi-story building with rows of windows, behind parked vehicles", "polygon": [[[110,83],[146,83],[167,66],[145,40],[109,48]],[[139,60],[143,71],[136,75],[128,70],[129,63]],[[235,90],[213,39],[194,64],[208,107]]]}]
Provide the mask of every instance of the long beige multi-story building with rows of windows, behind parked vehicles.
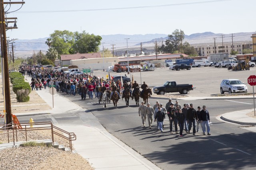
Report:
[{"label": "long beige multi-story building with rows of windows, behind parked vehicles", "polygon": [[[223,43],[202,43],[202,44],[191,44],[198,52],[199,56],[210,56],[210,54],[230,54],[230,52],[238,51],[238,54],[243,54],[243,49],[252,49],[252,41],[236,41],[223,42]],[[214,50],[215,47],[215,50]]]}]

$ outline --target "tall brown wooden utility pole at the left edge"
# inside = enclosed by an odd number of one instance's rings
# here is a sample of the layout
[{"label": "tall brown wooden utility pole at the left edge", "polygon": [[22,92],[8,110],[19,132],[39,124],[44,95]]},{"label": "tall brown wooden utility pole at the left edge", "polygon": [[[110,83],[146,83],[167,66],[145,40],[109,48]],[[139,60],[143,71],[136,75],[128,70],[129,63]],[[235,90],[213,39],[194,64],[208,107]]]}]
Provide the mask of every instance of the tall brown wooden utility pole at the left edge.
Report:
[{"label": "tall brown wooden utility pole at the left edge", "polygon": [[10,82],[9,82],[9,67],[8,67],[8,54],[6,43],[6,27],[4,18],[4,0],[0,0],[1,16],[0,16],[0,41],[1,41],[1,57],[3,58],[4,65],[4,98],[5,98],[5,111],[6,111],[6,124],[12,126],[12,108],[11,108],[11,96],[10,96]]}]

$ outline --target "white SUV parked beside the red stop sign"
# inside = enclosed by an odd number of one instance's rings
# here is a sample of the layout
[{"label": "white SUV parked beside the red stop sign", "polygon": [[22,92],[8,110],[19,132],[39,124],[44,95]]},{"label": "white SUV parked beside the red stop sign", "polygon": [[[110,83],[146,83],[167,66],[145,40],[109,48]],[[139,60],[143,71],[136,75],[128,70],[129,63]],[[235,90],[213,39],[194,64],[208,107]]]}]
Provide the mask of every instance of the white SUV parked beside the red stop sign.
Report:
[{"label": "white SUV parked beside the red stop sign", "polygon": [[247,86],[238,79],[224,79],[220,83],[220,93],[224,92],[234,93],[234,92],[247,92]]}]

